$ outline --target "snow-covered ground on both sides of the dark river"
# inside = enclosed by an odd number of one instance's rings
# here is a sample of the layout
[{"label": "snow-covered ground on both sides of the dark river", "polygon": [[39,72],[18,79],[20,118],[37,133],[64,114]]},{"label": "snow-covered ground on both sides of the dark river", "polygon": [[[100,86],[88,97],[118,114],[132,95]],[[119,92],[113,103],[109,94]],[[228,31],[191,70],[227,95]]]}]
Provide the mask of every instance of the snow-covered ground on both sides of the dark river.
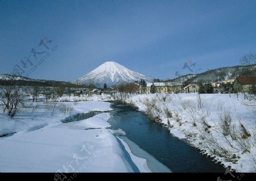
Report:
[{"label": "snow-covered ground on both sides of the dark river", "polygon": [[[148,172],[129,141],[115,136],[108,112],[61,123],[89,111],[109,111],[109,95],[65,96],[34,103],[14,118],[0,115],[1,172]],[[79,102],[82,101],[82,102]],[[256,112],[236,94],[143,94],[126,102],[155,117],[171,134],[187,140],[216,162],[239,172],[256,170]],[[36,106],[37,105],[37,106]],[[120,131],[122,133],[122,131]]]}]

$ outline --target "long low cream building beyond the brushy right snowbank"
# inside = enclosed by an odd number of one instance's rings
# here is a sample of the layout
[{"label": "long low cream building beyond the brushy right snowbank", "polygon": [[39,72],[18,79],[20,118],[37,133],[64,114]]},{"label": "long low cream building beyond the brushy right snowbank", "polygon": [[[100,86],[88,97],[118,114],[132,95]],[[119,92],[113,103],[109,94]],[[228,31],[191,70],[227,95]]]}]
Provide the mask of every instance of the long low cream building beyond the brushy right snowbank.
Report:
[{"label": "long low cream building beyond the brushy right snowbank", "polygon": [[[145,88],[140,85],[139,94],[149,94],[152,84],[153,83],[147,83]],[[159,93],[178,93],[181,92],[182,86],[179,82],[154,82],[154,85],[156,86],[156,92]]]}]

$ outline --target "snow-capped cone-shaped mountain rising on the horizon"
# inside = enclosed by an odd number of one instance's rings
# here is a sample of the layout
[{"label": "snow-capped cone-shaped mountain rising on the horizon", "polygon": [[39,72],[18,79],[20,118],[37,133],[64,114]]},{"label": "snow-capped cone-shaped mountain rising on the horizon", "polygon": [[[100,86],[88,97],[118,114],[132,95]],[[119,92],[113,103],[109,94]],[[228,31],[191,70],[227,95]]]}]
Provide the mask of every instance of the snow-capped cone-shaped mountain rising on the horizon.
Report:
[{"label": "snow-capped cone-shaped mountain rising on the horizon", "polygon": [[74,83],[93,83],[97,86],[102,86],[104,83],[106,83],[106,85],[112,86],[121,82],[134,82],[140,81],[141,79],[148,82],[153,80],[153,78],[147,77],[146,75],[137,73],[133,70],[129,70],[117,62],[109,61],[101,64],[96,69],[90,71],[81,78],[76,79]]}]

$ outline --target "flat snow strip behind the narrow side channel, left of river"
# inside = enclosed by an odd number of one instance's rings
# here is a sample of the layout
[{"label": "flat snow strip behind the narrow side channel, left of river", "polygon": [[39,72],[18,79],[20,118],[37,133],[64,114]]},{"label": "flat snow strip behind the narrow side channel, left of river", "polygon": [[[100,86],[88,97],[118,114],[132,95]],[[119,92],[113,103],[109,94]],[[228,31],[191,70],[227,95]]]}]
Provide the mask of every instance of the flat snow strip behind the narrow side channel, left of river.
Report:
[{"label": "flat snow strip behind the narrow side channel, left of river", "polygon": [[[75,115],[76,113],[86,113],[90,111],[111,111],[110,103],[100,101],[86,102],[67,102],[67,103],[33,103],[38,110],[24,110],[15,117],[11,118],[5,113],[1,113],[0,118],[0,136],[6,133],[15,133],[20,131],[34,131],[43,128],[46,125],[59,124],[66,117]],[[73,108],[70,113],[57,112],[52,107],[67,106]],[[55,105],[56,104],[56,105]]]}]

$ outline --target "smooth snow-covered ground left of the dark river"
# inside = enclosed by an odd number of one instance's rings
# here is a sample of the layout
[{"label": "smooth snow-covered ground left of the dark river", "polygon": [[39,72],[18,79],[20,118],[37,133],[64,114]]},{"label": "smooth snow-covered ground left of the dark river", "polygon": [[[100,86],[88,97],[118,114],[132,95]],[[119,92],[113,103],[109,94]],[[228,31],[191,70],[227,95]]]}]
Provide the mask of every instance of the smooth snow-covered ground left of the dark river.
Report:
[{"label": "smooth snow-covered ground left of the dark river", "polygon": [[22,111],[13,118],[1,113],[0,135],[16,133],[0,138],[0,172],[57,172],[64,178],[65,172],[150,171],[146,159],[133,155],[108,129],[108,112],[61,123],[77,113],[109,111],[110,103],[34,104],[36,110]]}]

